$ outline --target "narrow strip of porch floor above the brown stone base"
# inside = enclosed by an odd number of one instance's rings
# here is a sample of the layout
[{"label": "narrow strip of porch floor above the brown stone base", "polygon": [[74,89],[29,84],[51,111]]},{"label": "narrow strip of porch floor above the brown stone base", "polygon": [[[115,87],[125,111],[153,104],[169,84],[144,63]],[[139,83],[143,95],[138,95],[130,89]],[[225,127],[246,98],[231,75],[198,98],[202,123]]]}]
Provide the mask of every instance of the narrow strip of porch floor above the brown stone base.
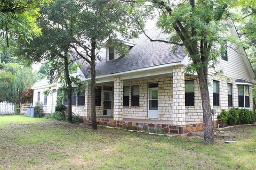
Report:
[{"label": "narrow strip of porch floor above the brown stone base", "polygon": [[[113,117],[97,117],[97,118],[105,118],[108,120],[114,120]],[[123,121],[127,122],[137,122],[137,123],[153,123],[153,124],[173,124],[172,121],[164,121],[164,120],[154,120],[154,119],[140,119],[140,118],[123,118]],[[186,124],[194,124],[199,122],[186,122]]]}]

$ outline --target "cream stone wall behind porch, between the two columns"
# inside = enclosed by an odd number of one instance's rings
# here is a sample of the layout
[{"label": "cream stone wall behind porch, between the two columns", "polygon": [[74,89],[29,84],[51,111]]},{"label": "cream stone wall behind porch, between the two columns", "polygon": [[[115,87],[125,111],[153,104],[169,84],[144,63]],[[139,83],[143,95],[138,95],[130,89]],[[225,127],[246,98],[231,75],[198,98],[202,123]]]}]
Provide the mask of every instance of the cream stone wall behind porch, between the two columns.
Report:
[{"label": "cream stone wall behind porch, between the two columns", "polygon": [[[173,121],[172,76],[124,81],[130,87],[130,106],[123,107],[124,118],[148,119],[148,84],[158,82],[158,120]],[[131,106],[131,86],[139,85],[140,106]]]}]

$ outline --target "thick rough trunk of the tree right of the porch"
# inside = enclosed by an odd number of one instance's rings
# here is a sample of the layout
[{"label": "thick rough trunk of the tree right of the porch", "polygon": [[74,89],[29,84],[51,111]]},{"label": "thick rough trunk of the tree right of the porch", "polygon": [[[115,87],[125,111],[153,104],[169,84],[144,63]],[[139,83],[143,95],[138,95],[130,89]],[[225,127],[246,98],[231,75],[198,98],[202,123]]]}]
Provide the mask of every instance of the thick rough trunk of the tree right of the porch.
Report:
[{"label": "thick rough trunk of the tree right of the porch", "polygon": [[211,114],[211,104],[207,85],[207,75],[201,69],[197,71],[202,105],[203,105],[203,120],[204,120],[204,143],[213,144],[213,126],[212,126],[212,114]]}]

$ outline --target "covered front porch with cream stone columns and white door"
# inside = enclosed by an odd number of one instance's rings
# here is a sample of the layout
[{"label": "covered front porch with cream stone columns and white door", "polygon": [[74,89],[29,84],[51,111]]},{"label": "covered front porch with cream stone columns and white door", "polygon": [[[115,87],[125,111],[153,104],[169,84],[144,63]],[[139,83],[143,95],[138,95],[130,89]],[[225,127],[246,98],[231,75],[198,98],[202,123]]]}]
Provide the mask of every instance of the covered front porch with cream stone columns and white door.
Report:
[{"label": "covered front porch with cream stone columns and white door", "polygon": [[145,72],[97,79],[100,91],[96,98],[101,99],[96,102],[97,117],[109,121],[190,124],[186,122],[185,77],[183,66],[178,65],[155,75]]}]

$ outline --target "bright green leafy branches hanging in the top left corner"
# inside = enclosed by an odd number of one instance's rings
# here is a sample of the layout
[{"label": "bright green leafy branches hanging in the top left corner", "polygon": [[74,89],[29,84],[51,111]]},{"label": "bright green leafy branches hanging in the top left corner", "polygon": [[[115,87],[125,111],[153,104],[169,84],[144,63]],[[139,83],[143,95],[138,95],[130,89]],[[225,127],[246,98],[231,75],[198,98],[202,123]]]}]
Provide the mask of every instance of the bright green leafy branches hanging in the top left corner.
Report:
[{"label": "bright green leafy branches hanging in the top left corner", "polygon": [[[40,33],[36,25],[39,6],[49,0],[3,0],[0,6],[0,32],[9,47],[9,36],[29,41]],[[2,44],[2,43],[1,43]]]}]

